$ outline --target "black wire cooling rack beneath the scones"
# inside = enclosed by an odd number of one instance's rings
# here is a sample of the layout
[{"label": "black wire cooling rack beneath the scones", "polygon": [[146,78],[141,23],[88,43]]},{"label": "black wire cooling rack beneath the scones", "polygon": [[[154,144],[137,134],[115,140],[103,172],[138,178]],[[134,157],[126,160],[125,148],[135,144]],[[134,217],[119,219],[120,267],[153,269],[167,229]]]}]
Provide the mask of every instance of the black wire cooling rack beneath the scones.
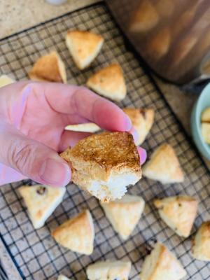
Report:
[{"label": "black wire cooling rack beneath the scones", "polygon": [[[102,51],[87,70],[79,71],[73,64],[64,43],[68,29],[89,29],[102,34],[105,39]],[[66,64],[68,83],[77,85],[85,85],[87,78],[102,66],[111,62],[120,63],[125,73],[128,94],[119,105],[150,106],[155,109],[155,124],[143,146],[148,155],[151,155],[160,144],[164,142],[171,144],[179,156],[186,179],[184,183],[169,186],[141,179],[136,186],[129,189],[129,193],[144,198],[146,209],[127,241],[121,240],[113,231],[99,202],[73,184],[67,187],[64,201],[39,230],[32,227],[25,205],[18,194],[18,187],[22,182],[1,187],[1,238],[22,279],[57,279],[57,275],[63,273],[72,279],[83,280],[86,279],[87,265],[106,259],[131,260],[130,279],[138,279],[142,262],[147,254],[146,244],[151,244],[153,239],[164,242],[177,255],[188,272],[186,279],[209,279],[210,263],[193,260],[190,255],[190,238],[183,240],[167,228],[152,203],[155,197],[169,195],[186,194],[196,197],[200,204],[193,227],[195,233],[202,221],[209,219],[209,172],[141,62],[125,46],[123,35],[113,22],[106,6],[104,4],[90,6],[1,40],[1,72],[13,76],[16,80],[25,80],[36,59],[55,49]],[[94,252],[90,256],[68,251],[50,237],[52,229],[85,208],[90,209],[92,213],[96,232]]]}]

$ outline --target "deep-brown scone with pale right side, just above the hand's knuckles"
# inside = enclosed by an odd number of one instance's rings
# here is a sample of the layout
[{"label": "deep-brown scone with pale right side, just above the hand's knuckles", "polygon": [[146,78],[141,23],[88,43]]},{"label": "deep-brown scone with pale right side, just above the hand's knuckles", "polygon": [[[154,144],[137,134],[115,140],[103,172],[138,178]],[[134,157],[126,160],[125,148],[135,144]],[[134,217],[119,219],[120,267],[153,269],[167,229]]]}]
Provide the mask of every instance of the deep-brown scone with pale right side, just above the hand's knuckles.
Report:
[{"label": "deep-brown scone with pale right side, just above the hand's knuckles", "polygon": [[29,71],[31,80],[66,83],[66,69],[64,62],[55,51],[43,55]]}]

